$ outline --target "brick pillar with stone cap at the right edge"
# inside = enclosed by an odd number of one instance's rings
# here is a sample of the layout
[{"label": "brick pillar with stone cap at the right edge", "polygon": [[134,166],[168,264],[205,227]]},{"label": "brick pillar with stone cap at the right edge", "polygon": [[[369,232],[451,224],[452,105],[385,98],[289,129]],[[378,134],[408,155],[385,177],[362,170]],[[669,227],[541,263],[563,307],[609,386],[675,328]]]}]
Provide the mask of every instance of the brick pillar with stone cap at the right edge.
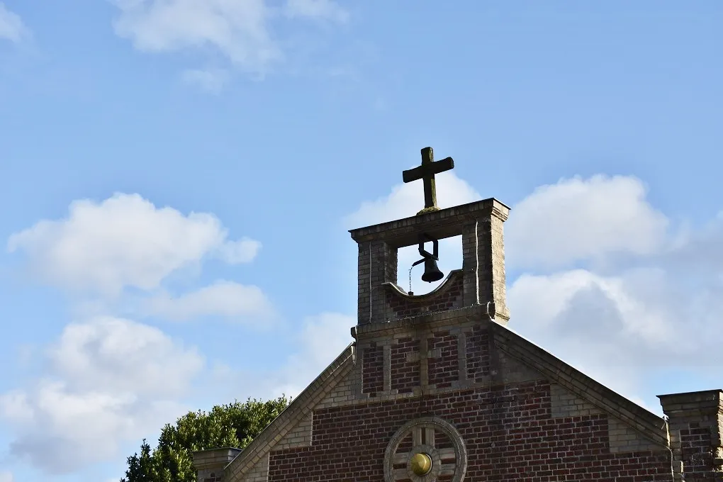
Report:
[{"label": "brick pillar with stone cap at the right edge", "polygon": [[723,391],[658,395],[674,468],[685,482],[723,481]]}]

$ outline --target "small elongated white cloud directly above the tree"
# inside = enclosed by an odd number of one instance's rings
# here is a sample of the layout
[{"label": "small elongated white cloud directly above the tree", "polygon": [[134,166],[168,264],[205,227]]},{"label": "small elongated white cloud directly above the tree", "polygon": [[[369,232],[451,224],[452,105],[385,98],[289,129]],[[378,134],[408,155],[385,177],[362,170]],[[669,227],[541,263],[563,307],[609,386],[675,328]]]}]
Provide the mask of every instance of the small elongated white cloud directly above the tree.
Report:
[{"label": "small elongated white cloud directly above the tree", "polygon": [[210,316],[268,321],[274,313],[270,301],[257,286],[224,280],[178,297],[150,298],[145,310],[148,314],[172,320]]}]

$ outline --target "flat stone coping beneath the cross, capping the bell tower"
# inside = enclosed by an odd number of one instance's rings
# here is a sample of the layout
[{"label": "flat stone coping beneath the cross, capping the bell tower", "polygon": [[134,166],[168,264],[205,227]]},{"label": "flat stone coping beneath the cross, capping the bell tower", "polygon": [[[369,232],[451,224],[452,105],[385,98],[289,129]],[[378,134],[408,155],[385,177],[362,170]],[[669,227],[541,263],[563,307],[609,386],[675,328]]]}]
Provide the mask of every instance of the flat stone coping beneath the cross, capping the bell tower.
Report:
[{"label": "flat stone coping beneath the cross, capping the bell tower", "polygon": [[507,220],[510,207],[494,197],[466,205],[447,207],[439,211],[425,212],[388,223],[375,224],[349,231],[357,243],[385,241],[396,248],[419,244],[419,233],[427,233],[437,240],[462,234],[462,225],[480,216],[495,215]]}]

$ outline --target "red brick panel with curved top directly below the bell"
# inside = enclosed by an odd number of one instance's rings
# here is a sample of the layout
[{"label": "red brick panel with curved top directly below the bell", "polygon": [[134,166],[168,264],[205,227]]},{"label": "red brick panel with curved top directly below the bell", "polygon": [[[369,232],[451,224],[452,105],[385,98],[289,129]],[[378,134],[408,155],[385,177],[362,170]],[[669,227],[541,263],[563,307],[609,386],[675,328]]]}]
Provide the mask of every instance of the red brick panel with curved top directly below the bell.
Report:
[{"label": "red brick panel with curved top directly below the bell", "polygon": [[422,313],[461,308],[463,277],[461,271],[450,277],[437,291],[422,296],[404,296],[393,286],[383,287],[386,298],[385,319],[413,317]]}]

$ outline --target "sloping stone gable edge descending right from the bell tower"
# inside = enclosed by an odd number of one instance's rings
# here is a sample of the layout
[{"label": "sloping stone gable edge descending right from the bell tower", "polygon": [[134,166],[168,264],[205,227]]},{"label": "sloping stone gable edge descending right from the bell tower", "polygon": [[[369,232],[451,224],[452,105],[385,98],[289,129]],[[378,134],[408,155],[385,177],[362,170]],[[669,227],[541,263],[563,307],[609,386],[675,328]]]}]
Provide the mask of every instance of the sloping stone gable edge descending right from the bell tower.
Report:
[{"label": "sloping stone gable edge descending right from the bell tower", "polygon": [[531,369],[547,376],[549,380],[573,392],[583,400],[595,405],[605,413],[615,415],[646,439],[669,447],[665,421],[637,403],[631,402],[590,376],[568,365],[544,348],[535,345],[498,323],[490,323],[495,345]]}]

